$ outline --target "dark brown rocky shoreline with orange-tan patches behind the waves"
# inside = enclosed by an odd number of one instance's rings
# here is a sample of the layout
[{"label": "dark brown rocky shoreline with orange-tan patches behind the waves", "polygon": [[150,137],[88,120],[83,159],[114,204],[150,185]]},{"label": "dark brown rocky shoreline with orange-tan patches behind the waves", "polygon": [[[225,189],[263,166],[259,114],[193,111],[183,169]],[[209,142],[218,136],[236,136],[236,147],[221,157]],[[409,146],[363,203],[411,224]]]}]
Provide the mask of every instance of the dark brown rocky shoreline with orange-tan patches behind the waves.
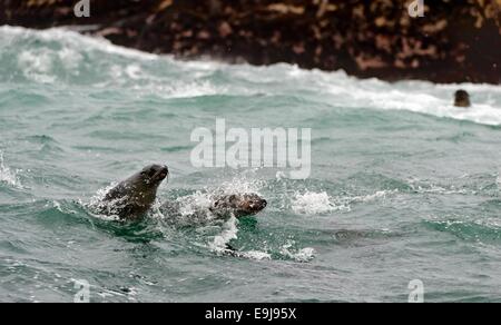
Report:
[{"label": "dark brown rocky shoreline with orange-tan patches behind the waves", "polygon": [[[501,82],[501,0],[3,0],[0,24],[80,27],[125,47],[178,58],[295,63],[360,78]],[[85,28],[82,28],[85,27]]]}]

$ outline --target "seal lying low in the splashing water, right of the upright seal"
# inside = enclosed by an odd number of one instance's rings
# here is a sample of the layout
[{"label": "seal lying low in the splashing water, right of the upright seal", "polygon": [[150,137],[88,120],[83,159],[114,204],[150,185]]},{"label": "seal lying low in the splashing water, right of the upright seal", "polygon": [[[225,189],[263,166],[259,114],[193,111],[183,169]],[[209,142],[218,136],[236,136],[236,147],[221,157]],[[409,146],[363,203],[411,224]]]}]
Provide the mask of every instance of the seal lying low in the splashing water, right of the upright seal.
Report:
[{"label": "seal lying low in the splashing water, right of the upright seal", "polygon": [[[209,206],[189,209],[191,221],[204,221],[207,219],[228,219],[232,216],[242,218],[254,216],[267,206],[267,201],[257,194],[225,194],[216,195],[209,199]],[[175,218],[183,215],[183,205],[179,201],[165,201],[160,211],[168,217]],[[207,217],[207,215],[210,215]]]}]

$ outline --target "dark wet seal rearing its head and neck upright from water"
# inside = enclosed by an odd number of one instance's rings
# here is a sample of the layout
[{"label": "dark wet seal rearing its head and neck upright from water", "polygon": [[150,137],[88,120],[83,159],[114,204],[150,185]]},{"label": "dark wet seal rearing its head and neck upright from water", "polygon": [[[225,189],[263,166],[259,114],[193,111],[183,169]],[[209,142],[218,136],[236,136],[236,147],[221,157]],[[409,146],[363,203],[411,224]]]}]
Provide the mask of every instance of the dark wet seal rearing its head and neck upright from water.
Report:
[{"label": "dark wet seal rearing its head and neck upright from water", "polygon": [[157,189],[168,175],[167,166],[146,166],[106,194],[98,205],[100,213],[121,220],[140,219],[155,203]]}]

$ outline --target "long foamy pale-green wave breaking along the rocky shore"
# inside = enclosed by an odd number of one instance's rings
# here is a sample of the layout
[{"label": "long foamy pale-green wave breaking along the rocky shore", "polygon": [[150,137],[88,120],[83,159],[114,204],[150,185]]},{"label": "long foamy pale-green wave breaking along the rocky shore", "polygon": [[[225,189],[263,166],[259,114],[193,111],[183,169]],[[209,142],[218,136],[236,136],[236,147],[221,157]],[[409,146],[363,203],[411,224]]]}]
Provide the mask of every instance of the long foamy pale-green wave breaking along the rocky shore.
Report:
[{"label": "long foamy pale-green wave breaking along the rocky shore", "polygon": [[[327,107],[399,110],[501,126],[499,86],[389,83],[377,79],[360,80],[344,71],[303,70],[286,63],[252,67],[215,61],[186,62],[171,56],[114,46],[105,39],[61,28],[35,31],[3,26],[0,27],[0,43],[7,45],[0,49],[2,61],[8,63],[0,67],[2,75],[23,76],[38,83],[88,82],[92,87],[125,87],[140,96],[161,98],[301,92],[312,104],[322,102]],[[472,108],[452,106],[452,95],[459,88],[471,92]]]}]

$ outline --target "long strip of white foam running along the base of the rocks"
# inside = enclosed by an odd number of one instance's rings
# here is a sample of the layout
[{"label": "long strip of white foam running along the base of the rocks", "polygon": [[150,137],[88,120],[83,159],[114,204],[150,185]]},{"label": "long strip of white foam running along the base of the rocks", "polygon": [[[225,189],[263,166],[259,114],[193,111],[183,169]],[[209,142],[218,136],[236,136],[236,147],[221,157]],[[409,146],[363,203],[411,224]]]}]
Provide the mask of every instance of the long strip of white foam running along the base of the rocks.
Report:
[{"label": "long strip of white foam running along the base of the rocks", "polygon": [[[59,42],[59,50],[40,49],[33,52],[31,48],[19,56],[19,65],[23,66],[26,76],[37,82],[55,82],[51,67],[58,58],[67,70],[77,70],[82,60],[82,53],[92,51],[109,53],[119,58],[131,59],[135,62],[118,63],[119,73],[127,78],[110,78],[109,82],[124,82],[128,79],[132,89],[155,93],[168,98],[210,96],[218,93],[269,93],[291,95],[301,91],[311,93],[315,100],[324,100],[330,106],[338,108],[364,108],[373,110],[403,110],[440,118],[465,120],[477,124],[501,126],[501,87],[491,85],[435,85],[426,81],[385,82],[377,79],[360,80],[348,77],[344,71],[327,72],[320,70],[303,70],[297,66],[279,63],[268,67],[252,67],[249,65],[229,66],[213,61],[179,61],[171,56],[158,56],[111,45],[100,38],[79,35],[62,28],[48,30],[30,30],[20,27],[0,27],[2,43],[18,42],[19,39],[36,38]],[[52,51],[48,55],[47,51]],[[52,57],[51,57],[52,56]],[[160,61],[177,71],[171,75],[157,76],[156,66],[149,65],[149,71],[141,65]],[[114,60],[120,61],[120,60]],[[111,63],[109,63],[111,65]],[[117,73],[111,68],[111,73]],[[122,70],[122,71],[121,71]],[[230,78],[227,85],[214,85],[204,80],[222,70]],[[106,73],[106,72],[105,72]],[[181,77],[180,77],[181,76]],[[244,79],[246,85],[238,82]],[[119,83],[120,85],[120,83]],[[272,86],[272,87],[271,87]],[[469,109],[452,106],[453,92],[465,89],[471,93],[473,106]]]}]

